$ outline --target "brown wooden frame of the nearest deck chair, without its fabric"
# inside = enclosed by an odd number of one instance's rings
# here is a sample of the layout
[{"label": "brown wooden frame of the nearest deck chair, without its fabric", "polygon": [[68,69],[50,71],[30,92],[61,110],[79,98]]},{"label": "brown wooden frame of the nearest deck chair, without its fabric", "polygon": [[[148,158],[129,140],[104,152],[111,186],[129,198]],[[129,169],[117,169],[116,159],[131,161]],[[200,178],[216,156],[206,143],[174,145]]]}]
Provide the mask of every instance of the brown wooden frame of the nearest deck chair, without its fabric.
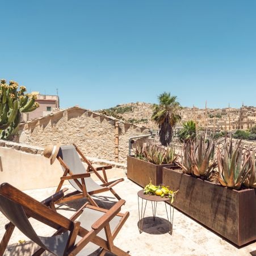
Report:
[{"label": "brown wooden frame of the nearest deck chair, without its fabric", "polygon": [[[89,205],[89,202],[87,202],[70,219],[68,219],[57,213],[56,209],[54,208],[54,204],[52,204],[52,202],[54,202],[56,198],[60,197],[62,193],[63,191],[60,191],[57,194],[54,194],[51,198],[48,198],[47,200],[40,203],[37,200],[28,196],[27,194],[24,194],[17,188],[12,187],[8,183],[3,183],[0,186],[0,195],[5,196],[7,199],[10,199],[15,203],[21,205],[27,217],[32,217],[33,219],[39,220],[41,223],[57,229],[56,233],[54,233],[53,236],[61,234],[66,230],[70,231],[64,255],[76,255],[89,242],[93,242],[94,244],[102,248],[100,255],[104,255],[107,251],[110,251],[120,256],[129,255],[125,251],[121,250],[119,247],[116,247],[113,243],[114,238],[117,236],[117,233],[120,231],[121,227],[129,216],[129,212],[120,213],[121,205],[125,203],[124,200],[119,200],[119,202],[117,202],[109,210]],[[53,208],[51,208],[51,205],[53,205]],[[50,208],[48,206],[50,206]],[[75,221],[77,217],[82,214],[85,208],[90,208],[94,211],[103,212],[103,215],[97,221],[95,221],[93,225],[91,225],[91,230],[86,230],[81,226],[81,223],[79,223],[79,221]],[[119,216],[120,221],[111,233],[110,221],[115,216]],[[6,232],[0,244],[0,256],[3,255],[15,226],[14,224],[9,223],[5,226],[5,228]],[[104,232],[106,234],[106,240],[97,236],[97,234],[102,229],[104,229]],[[75,244],[75,239],[78,235],[82,238],[79,242],[77,242],[77,244]],[[41,255],[44,251],[45,249],[40,248],[33,255]]]}]

